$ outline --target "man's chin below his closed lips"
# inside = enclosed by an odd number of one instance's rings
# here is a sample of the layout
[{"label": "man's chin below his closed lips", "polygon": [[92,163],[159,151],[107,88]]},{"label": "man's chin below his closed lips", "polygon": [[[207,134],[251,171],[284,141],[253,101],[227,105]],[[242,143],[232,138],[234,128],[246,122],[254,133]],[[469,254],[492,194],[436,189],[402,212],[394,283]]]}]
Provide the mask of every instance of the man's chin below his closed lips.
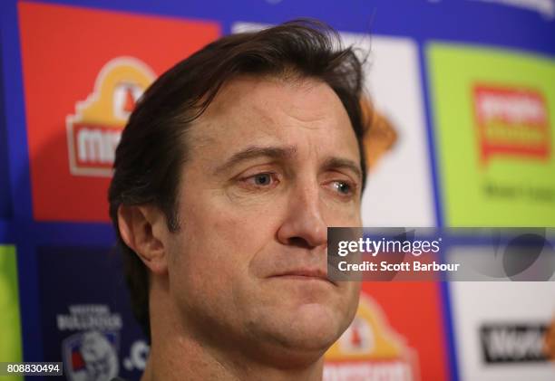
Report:
[{"label": "man's chin below his closed lips", "polygon": [[356,309],[355,295],[328,281],[272,280],[263,283],[260,294],[264,297],[244,315],[250,337],[271,351],[299,358],[322,356]]}]

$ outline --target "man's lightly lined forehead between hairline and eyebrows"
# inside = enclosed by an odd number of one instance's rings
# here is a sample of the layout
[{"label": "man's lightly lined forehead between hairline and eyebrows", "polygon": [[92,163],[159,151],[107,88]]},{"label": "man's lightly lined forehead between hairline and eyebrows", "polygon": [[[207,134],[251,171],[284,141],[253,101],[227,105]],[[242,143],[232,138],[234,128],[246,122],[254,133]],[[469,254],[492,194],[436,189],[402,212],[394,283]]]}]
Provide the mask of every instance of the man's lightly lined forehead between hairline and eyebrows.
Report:
[{"label": "man's lightly lined forehead between hairline and eyebrows", "polygon": [[252,134],[299,127],[324,129],[328,135],[353,133],[341,100],[325,82],[274,76],[239,76],[227,82],[195,125],[197,138],[242,134],[255,138]]}]

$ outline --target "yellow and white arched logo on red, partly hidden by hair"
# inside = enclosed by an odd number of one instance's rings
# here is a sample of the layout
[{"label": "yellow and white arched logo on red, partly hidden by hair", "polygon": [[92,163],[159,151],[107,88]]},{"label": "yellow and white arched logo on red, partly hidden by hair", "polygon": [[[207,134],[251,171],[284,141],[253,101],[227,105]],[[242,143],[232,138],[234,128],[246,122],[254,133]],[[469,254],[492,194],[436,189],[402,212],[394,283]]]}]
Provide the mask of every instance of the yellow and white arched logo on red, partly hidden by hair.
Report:
[{"label": "yellow and white arched logo on red, partly hidden by hair", "polygon": [[111,176],[115,148],[141,94],[154,81],[153,71],[131,57],[106,63],[93,92],[77,102],[66,119],[70,172],[73,176]]}]

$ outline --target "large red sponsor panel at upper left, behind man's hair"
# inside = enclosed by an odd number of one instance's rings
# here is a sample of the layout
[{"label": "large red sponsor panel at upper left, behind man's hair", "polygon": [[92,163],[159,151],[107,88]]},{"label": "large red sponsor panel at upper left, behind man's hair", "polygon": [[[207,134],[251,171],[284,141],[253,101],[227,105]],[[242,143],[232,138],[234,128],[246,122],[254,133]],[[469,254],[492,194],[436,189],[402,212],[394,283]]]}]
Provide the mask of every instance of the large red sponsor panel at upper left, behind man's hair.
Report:
[{"label": "large red sponsor panel at upper left, behind man's hair", "polygon": [[135,101],[219,24],[18,6],[34,218],[108,221],[113,151]]}]

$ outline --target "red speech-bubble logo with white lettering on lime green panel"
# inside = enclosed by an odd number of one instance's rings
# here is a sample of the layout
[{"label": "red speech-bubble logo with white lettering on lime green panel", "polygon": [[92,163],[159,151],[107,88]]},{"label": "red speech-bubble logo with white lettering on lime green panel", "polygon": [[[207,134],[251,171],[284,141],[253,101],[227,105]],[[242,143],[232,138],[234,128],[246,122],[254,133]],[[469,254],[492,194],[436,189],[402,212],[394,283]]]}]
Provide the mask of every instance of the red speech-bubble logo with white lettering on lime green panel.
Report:
[{"label": "red speech-bubble logo with white lettering on lime green panel", "polygon": [[540,91],[476,84],[473,100],[482,164],[492,156],[550,157],[550,123]]}]

